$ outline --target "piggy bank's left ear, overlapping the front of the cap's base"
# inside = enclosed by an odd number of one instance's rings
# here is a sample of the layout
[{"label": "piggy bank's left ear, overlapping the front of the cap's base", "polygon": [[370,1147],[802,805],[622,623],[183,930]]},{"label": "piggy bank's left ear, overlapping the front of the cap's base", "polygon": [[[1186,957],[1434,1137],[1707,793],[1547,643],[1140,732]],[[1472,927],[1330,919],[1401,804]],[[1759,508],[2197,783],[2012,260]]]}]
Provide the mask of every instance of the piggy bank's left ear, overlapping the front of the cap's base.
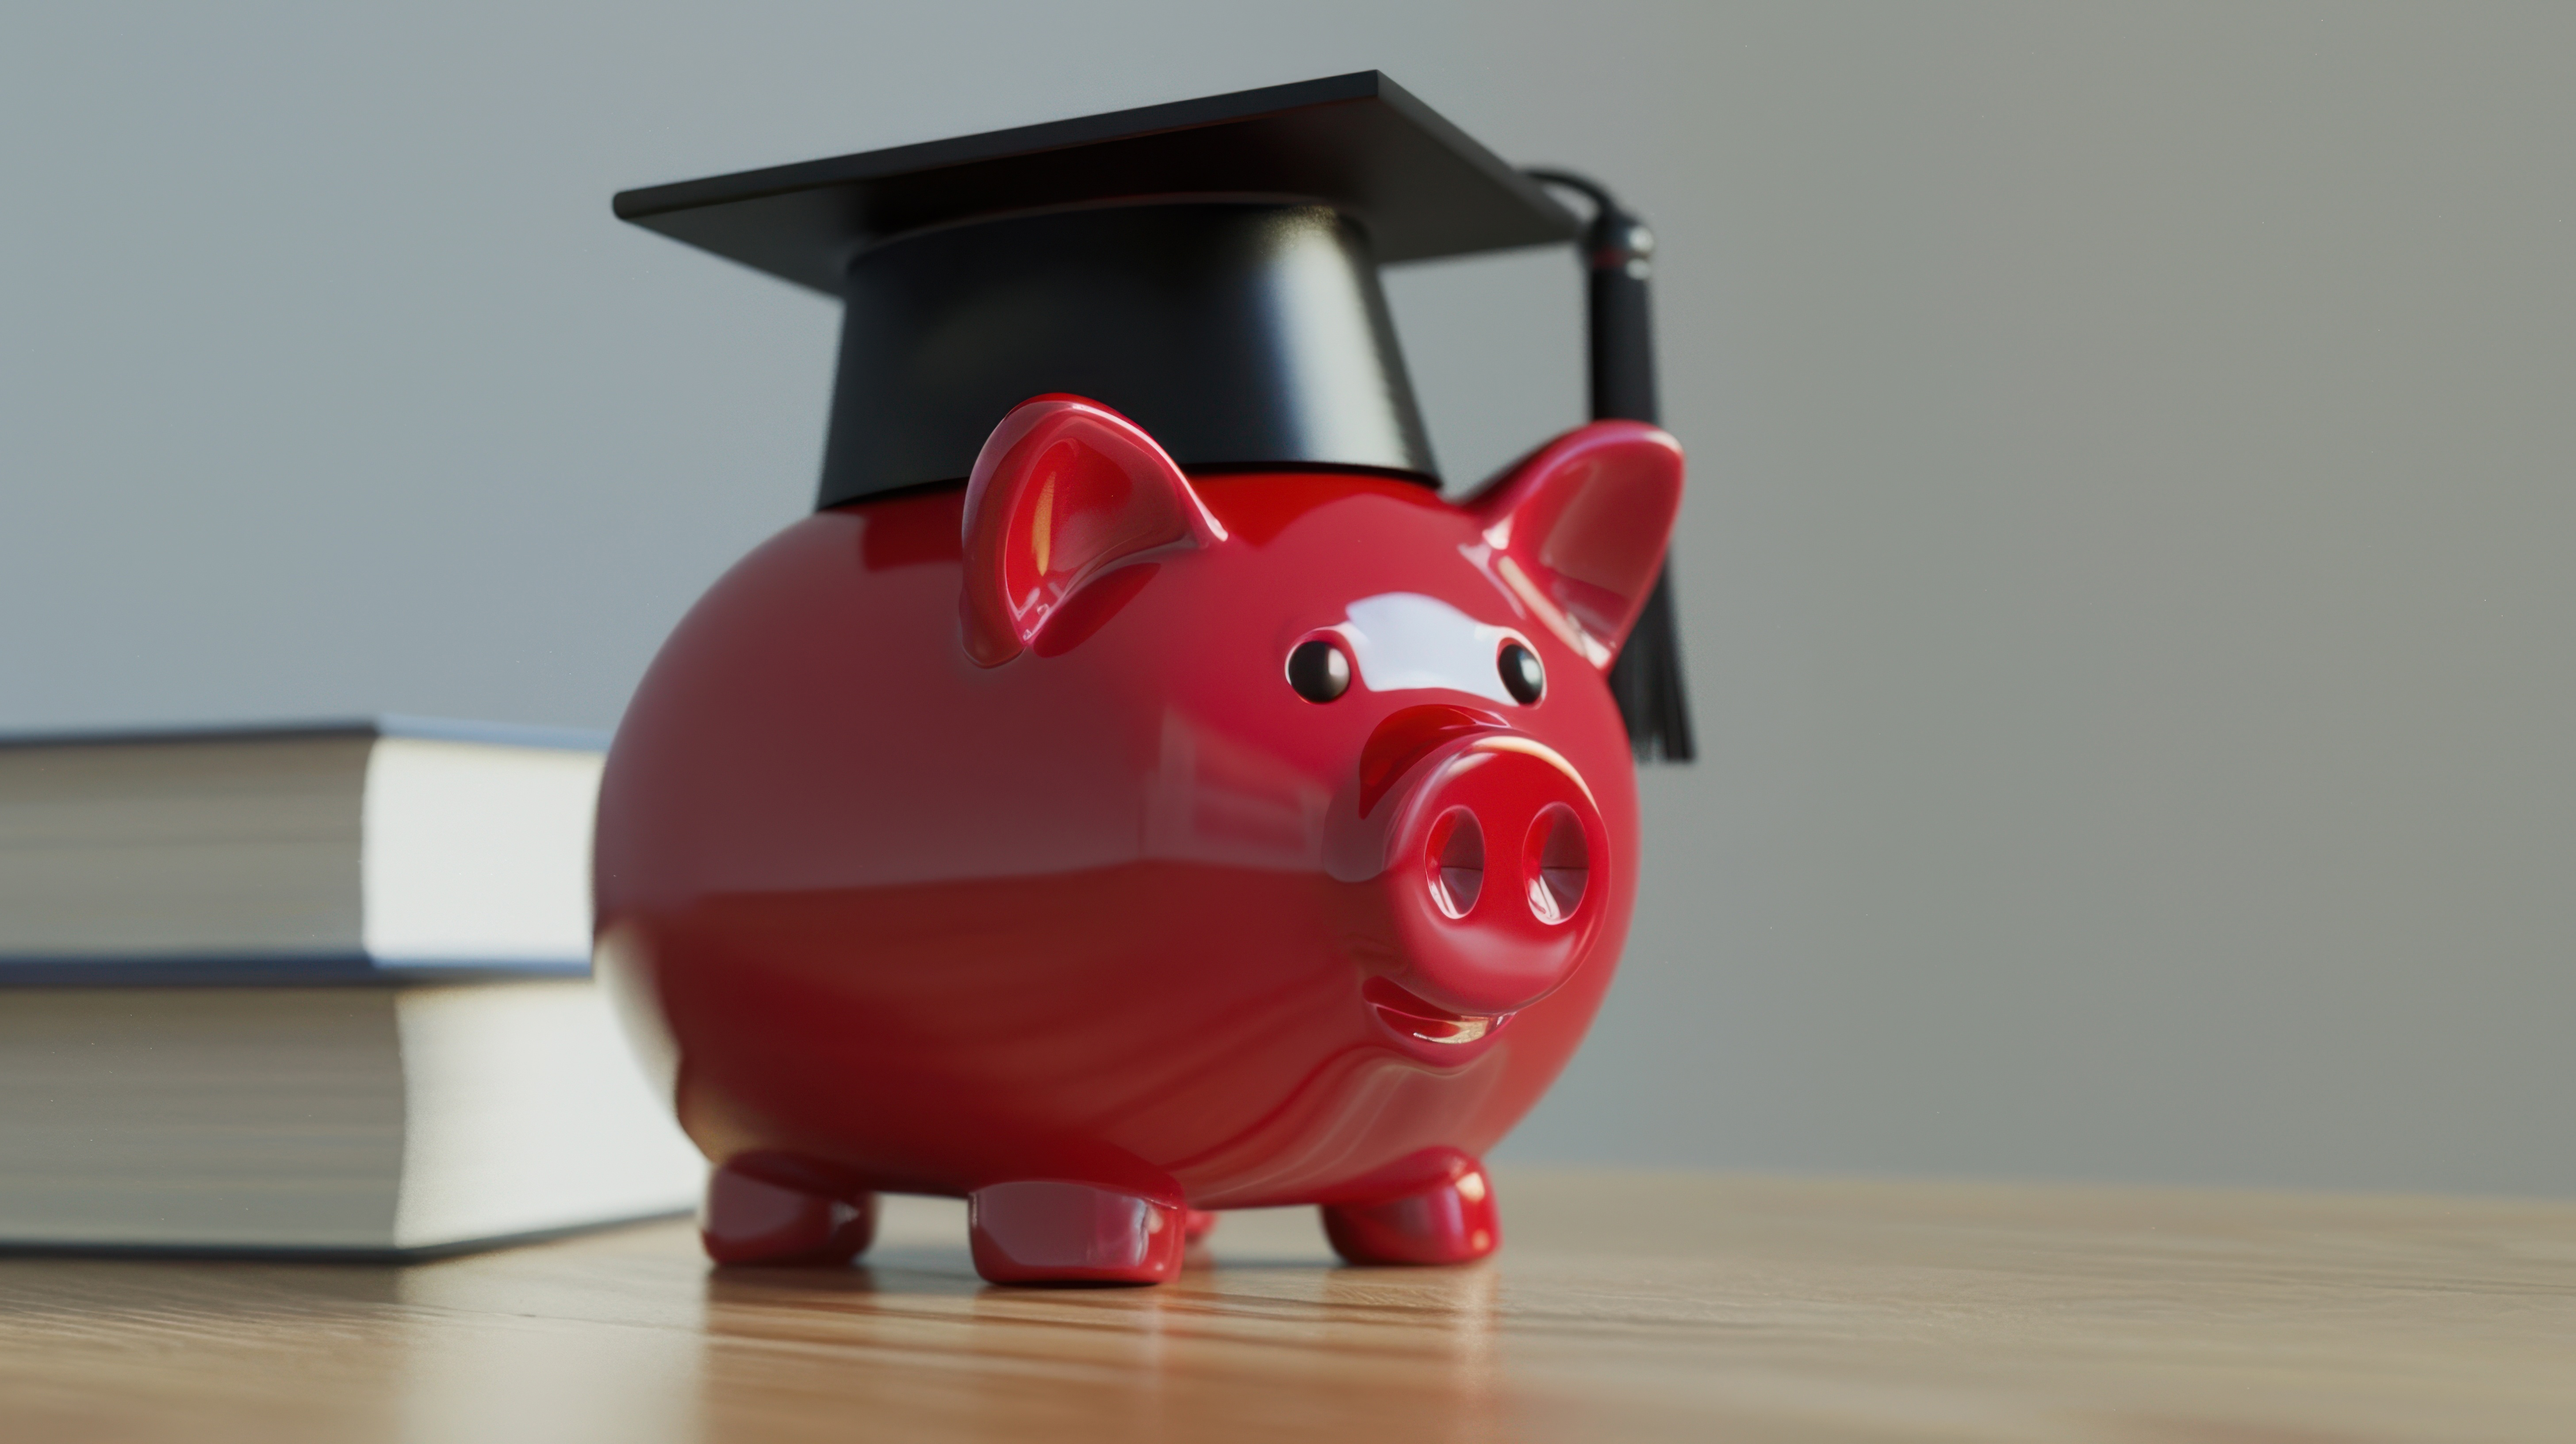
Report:
[{"label": "piggy bank's left ear, overlapping the front of the cap's base", "polygon": [[1082,397],[1025,400],[984,438],[966,480],[966,652],[1002,665],[1121,562],[1224,539],[1133,420]]}]

